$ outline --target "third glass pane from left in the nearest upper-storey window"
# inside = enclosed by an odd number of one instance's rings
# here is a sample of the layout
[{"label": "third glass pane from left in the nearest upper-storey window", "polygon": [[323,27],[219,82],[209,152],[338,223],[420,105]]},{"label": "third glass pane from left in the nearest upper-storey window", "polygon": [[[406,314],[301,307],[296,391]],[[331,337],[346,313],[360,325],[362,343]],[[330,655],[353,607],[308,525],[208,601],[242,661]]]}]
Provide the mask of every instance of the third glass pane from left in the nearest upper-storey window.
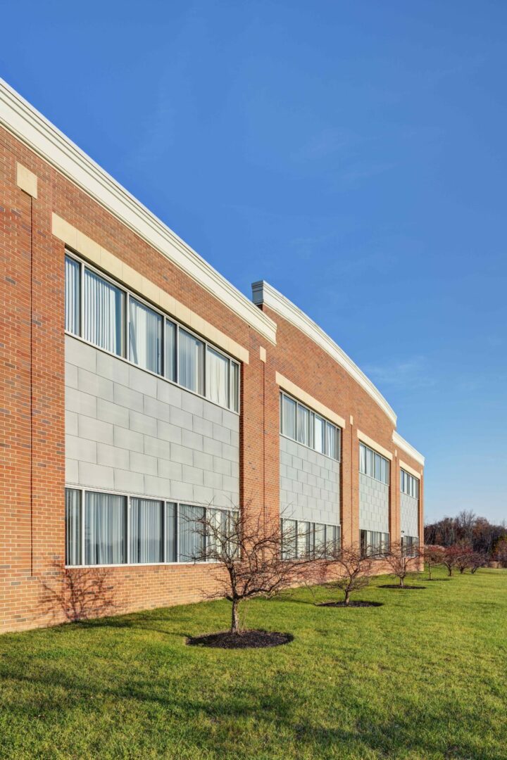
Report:
[{"label": "third glass pane from left in the nearest upper-storey window", "polygon": [[163,317],[135,298],[131,297],[128,303],[128,358],[143,369],[160,375]]}]

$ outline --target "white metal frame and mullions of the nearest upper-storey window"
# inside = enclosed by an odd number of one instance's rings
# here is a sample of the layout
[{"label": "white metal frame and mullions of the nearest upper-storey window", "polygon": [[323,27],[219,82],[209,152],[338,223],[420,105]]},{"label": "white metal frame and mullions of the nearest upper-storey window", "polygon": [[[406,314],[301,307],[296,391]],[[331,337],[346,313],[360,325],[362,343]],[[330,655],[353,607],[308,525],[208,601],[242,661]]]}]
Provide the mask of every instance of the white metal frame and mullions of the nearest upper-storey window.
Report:
[{"label": "white metal frame and mullions of the nearest upper-storey window", "polygon": [[[151,303],[147,299],[145,299],[143,296],[139,295],[138,293],[135,293],[134,290],[130,290],[128,287],[123,285],[119,280],[115,280],[114,277],[109,276],[106,272],[103,272],[101,269],[93,266],[93,264],[89,264],[88,261],[86,261],[84,258],[82,258],[78,253],[75,253],[72,249],[69,249],[68,246],[65,246],[65,256],[70,258],[72,261],[75,261],[79,265],[79,299],[80,299],[80,310],[79,310],[79,333],[73,333],[69,330],[67,330],[65,326],[65,314],[64,314],[64,332],[66,335],[69,335],[70,337],[74,337],[77,340],[82,340],[84,344],[87,344],[87,346],[92,346],[93,348],[96,348],[99,351],[103,351],[104,353],[108,354],[109,356],[114,356],[116,359],[121,359],[123,362],[126,362],[128,365],[132,367],[137,367],[137,369],[141,369],[142,372],[147,372],[149,375],[153,375],[153,377],[160,378],[160,380],[165,380],[165,382],[169,382],[171,385],[176,385],[178,388],[182,388],[185,391],[188,391],[189,393],[194,394],[198,398],[203,398],[206,401],[209,401],[210,404],[214,404],[215,406],[219,407],[220,409],[227,409],[230,412],[233,412],[234,414],[239,415],[241,410],[241,362],[239,362],[238,359],[236,359],[234,356],[231,356],[227,352],[223,351],[220,347],[215,346],[215,344],[211,343],[210,340],[207,340],[202,335],[199,335],[195,331],[192,330],[192,328],[187,327],[187,325],[184,325],[182,322],[177,320],[173,317],[173,315],[170,315],[168,312],[164,312],[163,309],[160,309],[160,307],[156,306],[154,303]],[[114,353],[113,351],[109,351],[106,348],[103,348],[102,346],[98,346],[95,343],[92,343],[91,340],[87,340],[87,338],[84,337],[84,272],[86,270],[89,270],[93,274],[97,275],[97,277],[102,277],[103,280],[105,280],[107,283],[112,285],[113,287],[116,287],[117,290],[120,290],[124,295],[123,300],[123,309],[122,309],[122,353]],[[65,297],[65,296],[64,296]],[[141,303],[142,306],[145,306],[147,309],[151,309],[152,312],[156,312],[158,315],[160,315],[163,318],[163,329],[162,329],[162,347],[161,347],[161,356],[160,356],[160,363],[161,363],[161,372],[160,374],[158,372],[153,372],[151,369],[146,369],[145,367],[136,364],[128,357],[130,356],[130,299],[131,297]],[[65,309],[64,309],[65,312]],[[176,325],[176,340],[175,340],[175,352],[176,352],[176,380],[171,380],[170,378],[166,377],[166,323],[171,322],[173,325]],[[198,391],[192,391],[190,388],[185,388],[184,385],[181,385],[179,382],[179,330],[180,328],[182,330],[185,330],[188,332],[192,337],[195,337],[197,340],[200,340],[201,343],[204,346],[204,361],[203,361],[203,393],[198,393]],[[208,346],[211,348],[211,350],[216,351],[217,353],[220,353],[225,359],[228,359],[229,361],[229,375],[228,375],[228,396],[229,396],[229,406],[223,407],[221,404],[217,404],[216,401],[212,401],[211,398],[209,398],[206,395],[207,390],[207,374],[208,374]],[[233,403],[233,365],[237,366],[237,377],[238,377],[238,388],[237,388],[237,401],[238,401],[238,408],[237,410],[232,406]]]}]

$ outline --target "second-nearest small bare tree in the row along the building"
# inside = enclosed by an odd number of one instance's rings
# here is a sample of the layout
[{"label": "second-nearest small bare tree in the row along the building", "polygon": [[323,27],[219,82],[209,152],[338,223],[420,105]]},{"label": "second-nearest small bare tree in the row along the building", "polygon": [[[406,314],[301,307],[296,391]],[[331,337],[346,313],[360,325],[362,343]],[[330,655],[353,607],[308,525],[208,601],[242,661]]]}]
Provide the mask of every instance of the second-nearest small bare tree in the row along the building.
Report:
[{"label": "second-nearest small bare tree in the row along the building", "polygon": [[322,565],[322,575],[331,589],[344,592],[344,604],[350,603],[350,594],[369,584],[374,558],[361,551],[359,545],[329,546]]}]

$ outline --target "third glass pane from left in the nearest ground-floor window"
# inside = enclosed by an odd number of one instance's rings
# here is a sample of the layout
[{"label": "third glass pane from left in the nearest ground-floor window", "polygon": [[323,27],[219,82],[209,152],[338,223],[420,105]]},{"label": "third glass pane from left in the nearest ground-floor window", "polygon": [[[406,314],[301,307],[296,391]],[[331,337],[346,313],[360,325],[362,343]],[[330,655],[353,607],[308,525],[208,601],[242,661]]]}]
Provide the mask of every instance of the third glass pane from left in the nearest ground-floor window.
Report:
[{"label": "third glass pane from left in the nearest ground-floor window", "polygon": [[162,502],[130,500],[130,562],[163,562]]}]

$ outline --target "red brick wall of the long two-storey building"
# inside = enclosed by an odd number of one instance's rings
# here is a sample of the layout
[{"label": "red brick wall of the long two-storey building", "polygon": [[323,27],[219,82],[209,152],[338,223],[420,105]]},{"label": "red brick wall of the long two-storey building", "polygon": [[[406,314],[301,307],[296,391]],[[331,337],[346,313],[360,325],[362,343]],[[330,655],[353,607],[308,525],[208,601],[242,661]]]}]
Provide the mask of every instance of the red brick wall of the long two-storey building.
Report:
[{"label": "red brick wall of the long two-storey building", "polygon": [[[38,177],[37,198],[17,188],[17,161]],[[72,591],[62,569],[65,247],[52,236],[53,211],[249,350],[250,362],[242,366],[243,505],[265,510],[266,515],[278,512],[276,371],[344,417],[341,524],[344,540],[357,540],[356,427],[395,451],[391,422],[366,391],[328,354],[268,309],[278,330],[277,346],[266,344],[214,296],[0,128],[0,631],[61,622],[72,614],[73,604],[82,603],[75,594],[69,602]],[[267,349],[266,363],[259,357],[259,346]],[[420,469],[407,454],[401,455]],[[399,530],[398,468],[392,467],[391,472],[391,533],[395,535]],[[68,578],[85,586],[96,579],[103,599],[93,600],[93,595],[88,599],[98,606],[97,613],[195,601],[201,598],[201,589],[213,586],[206,565],[68,571]]]}]

